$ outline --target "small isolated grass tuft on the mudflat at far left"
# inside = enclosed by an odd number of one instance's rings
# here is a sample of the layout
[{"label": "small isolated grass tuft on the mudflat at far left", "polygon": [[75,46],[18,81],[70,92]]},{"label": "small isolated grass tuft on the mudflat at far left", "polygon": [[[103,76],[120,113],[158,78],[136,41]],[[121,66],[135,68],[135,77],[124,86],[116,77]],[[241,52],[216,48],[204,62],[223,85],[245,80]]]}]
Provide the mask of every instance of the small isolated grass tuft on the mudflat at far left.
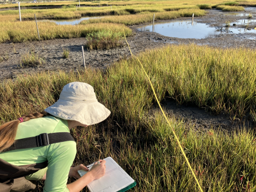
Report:
[{"label": "small isolated grass tuft on the mudflat at far left", "polygon": [[25,55],[22,55],[21,58],[21,67],[29,66],[29,67],[37,67],[45,63],[45,60],[38,57],[38,54],[36,54],[34,51],[30,51],[26,53]]}]

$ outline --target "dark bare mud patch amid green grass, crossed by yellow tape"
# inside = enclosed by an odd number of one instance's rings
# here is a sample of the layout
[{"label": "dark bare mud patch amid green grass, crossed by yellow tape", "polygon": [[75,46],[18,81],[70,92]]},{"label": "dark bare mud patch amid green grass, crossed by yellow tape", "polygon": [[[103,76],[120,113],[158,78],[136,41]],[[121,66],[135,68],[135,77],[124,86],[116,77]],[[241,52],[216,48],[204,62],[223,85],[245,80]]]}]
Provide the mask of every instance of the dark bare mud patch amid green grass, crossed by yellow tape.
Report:
[{"label": "dark bare mud patch amid green grass, crossed by yellow tape", "polygon": [[[192,103],[177,105],[175,100],[165,98],[161,102],[166,115],[174,117],[175,119],[182,119],[187,129],[195,129],[198,131],[207,132],[210,129],[214,131],[225,131],[231,133],[231,131],[237,130],[251,130],[255,129],[254,122],[250,120],[247,115],[238,121],[238,119],[232,119],[229,114],[222,112],[218,115],[211,111],[207,111],[204,108],[198,108]],[[158,111],[162,113],[158,105],[154,105],[149,110],[149,117],[154,117],[154,113]]]}]

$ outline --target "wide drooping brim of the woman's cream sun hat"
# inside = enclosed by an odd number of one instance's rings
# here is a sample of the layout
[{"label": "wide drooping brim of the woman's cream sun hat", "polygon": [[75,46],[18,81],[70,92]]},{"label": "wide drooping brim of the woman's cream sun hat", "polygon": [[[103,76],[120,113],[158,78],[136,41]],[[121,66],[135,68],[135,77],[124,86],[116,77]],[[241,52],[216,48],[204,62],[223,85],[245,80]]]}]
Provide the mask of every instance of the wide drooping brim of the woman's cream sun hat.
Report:
[{"label": "wide drooping brim of the woman's cream sun hat", "polygon": [[78,121],[84,125],[94,125],[104,121],[110,111],[99,102],[83,103],[59,99],[45,111],[53,116]]}]

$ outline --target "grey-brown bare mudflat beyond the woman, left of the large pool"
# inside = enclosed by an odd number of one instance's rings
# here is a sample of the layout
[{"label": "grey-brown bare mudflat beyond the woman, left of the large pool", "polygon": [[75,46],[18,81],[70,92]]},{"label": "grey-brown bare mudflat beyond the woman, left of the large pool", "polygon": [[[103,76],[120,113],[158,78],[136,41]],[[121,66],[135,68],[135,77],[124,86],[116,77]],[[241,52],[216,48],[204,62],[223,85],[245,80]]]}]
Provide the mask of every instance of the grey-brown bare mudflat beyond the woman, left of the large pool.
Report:
[{"label": "grey-brown bare mudflat beyond the woman, left of the large pool", "polygon": [[[164,45],[164,43],[148,41],[147,36],[143,33],[137,33],[135,36],[127,38],[130,44],[131,51],[137,54],[146,49],[153,49]],[[0,63],[0,79],[15,78],[18,74],[32,74],[39,71],[49,70],[76,70],[83,67],[82,48],[85,46],[86,38],[72,38],[72,39],[54,39],[42,42],[28,42],[28,43],[4,43],[0,44],[0,55],[7,60]],[[63,58],[63,49],[70,50],[69,58]],[[34,51],[39,58],[45,60],[45,64],[38,67],[22,67],[22,55],[29,51]],[[8,56],[6,57],[6,52]],[[88,51],[84,49],[84,57],[86,67],[92,68],[106,68],[111,63],[123,58],[129,57],[130,51],[127,45],[117,47],[111,50],[93,50]]]}]

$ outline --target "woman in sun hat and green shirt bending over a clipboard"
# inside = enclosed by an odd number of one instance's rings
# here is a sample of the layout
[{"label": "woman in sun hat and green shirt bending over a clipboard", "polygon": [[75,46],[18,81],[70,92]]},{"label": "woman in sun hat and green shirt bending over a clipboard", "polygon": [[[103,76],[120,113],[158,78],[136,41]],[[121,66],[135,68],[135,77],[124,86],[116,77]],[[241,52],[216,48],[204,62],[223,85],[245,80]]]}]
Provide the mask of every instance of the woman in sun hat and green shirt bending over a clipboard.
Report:
[{"label": "woman in sun hat and green shirt bending over a clipboard", "polygon": [[[90,171],[82,164],[70,168],[76,155],[76,142],[71,140],[42,147],[8,149],[15,145],[14,140],[36,138],[42,133],[69,132],[75,126],[97,124],[109,115],[110,111],[97,101],[91,85],[73,82],[65,85],[59,100],[42,113],[22,115],[22,118],[0,126],[0,159],[20,167],[48,163],[45,169],[26,176],[26,179],[14,180],[11,191],[33,191],[36,186],[28,180],[45,180],[44,191],[76,192],[101,178],[106,169],[104,160],[95,163]],[[79,178],[77,171],[81,169],[89,172]],[[69,176],[79,179],[67,185]]]}]

